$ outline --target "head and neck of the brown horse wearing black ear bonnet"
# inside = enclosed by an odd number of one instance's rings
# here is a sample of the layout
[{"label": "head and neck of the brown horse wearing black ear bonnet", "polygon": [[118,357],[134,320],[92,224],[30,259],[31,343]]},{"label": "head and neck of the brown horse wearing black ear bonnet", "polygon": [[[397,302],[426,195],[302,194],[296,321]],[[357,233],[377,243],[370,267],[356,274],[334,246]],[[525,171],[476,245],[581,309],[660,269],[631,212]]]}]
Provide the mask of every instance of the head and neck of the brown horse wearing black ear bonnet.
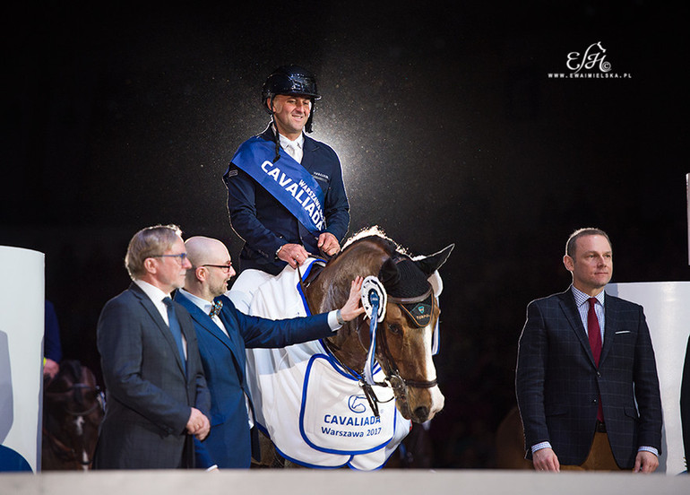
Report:
[{"label": "head and neck of the brown horse wearing black ear bonnet", "polygon": [[[368,404],[373,412],[371,422],[384,421],[378,418],[378,405],[394,398],[394,409],[397,408],[409,425],[409,421],[429,421],[443,409],[444,395],[436,381],[436,369],[432,360],[432,339],[440,314],[436,300],[440,291],[440,277],[436,271],[450,256],[453,247],[454,245],[445,247],[435,255],[412,258],[405,249],[386,237],[382,230],[373,228],[363,230],[349,239],[341,253],[333,256],[325,265],[318,265],[316,262],[310,265],[310,273],[300,282],[299,290],[303,293],[311,314],[341,308],[348,299],[350,282],[358,275],[376,277],[387,293],[384,319],[378,323],[378,331],[375,333],[375,361],[384,373],[384,379],[375,383],[379,392],[375,393],[374,387],[364,378],[367,355],[371,348],[371,318],[358,317],[341,326],[337,334],[321,341],[325,353],[337,363],[341,374],[349,374],[348,378],[357,380],[361,387],[361,395],[342,396],[341,401],[347,402],[353,397],[355,401],[362,396],[366,398],[366,402],[362,399],[361,404],[350,404],[350,411],[362,412],[362,404]],[[315,271],[319,271],[316,276]],[[429,281],[437,282],[436,288]],[[280,362],[280,366],[285,366],[284,360],[273,360]],[[255,369],[250,369],[250,373],[253,371],[256,372]],[[381,395],[380,391],[384,388],[392,391],[391,396],[385,400],[377,396]],[[252,394],[254,395],[254,390]],[[304,395],[306,396],[306,387]],[[262,398],[257,402],[261,403]],[[305,408],[303,403],[300,421],[302,417],[306,417]],[[315,414],[312,417],[323,415]],[[341,421],[341,424],[344,421],[337,420],[336,418],[343,416],[335,414],[325,417],[331,421]],[[410,428],[408,426],[401,436],[392,437],[386,446],[387,456],[404,439]],[[337,433],[342,435],[343,431],[338,430]],[[304,433],[302,435],[305,436]],[[311,442],[306,440],[306,443]],[[263,439],[261,465],[295,465],[294,460],[286,462],[281,458],[284,456],[276,453],[274,447],[280,449],[280,446]],[[326,447],[320,450],[329,451]],[[297,464],[306,465],[299,461]],[[323,467],[318,464],[315,466]]]}]

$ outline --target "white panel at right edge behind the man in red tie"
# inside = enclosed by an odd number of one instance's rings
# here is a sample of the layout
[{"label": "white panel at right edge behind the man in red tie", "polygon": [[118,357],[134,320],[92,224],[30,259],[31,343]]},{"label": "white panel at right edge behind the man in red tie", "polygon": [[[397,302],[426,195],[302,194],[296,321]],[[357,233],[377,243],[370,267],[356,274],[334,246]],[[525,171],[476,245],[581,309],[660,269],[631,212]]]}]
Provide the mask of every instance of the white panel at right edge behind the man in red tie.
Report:
[{"label": "white panel at right edge behind the man in red tie", "polygon": [[664,412],[659,470],[683,473],[686,463],[680,422],[680,382],[690,335],[690,282],[609,283],[606,291],[644,307],[657,359]]}]

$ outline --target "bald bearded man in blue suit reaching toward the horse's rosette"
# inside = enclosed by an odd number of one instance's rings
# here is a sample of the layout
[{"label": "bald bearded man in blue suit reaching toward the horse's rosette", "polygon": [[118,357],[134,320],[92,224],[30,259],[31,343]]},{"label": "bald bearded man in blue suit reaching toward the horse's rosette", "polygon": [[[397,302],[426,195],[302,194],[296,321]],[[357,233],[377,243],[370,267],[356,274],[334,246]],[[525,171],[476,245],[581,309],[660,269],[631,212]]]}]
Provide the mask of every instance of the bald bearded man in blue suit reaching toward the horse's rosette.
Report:
[{"label": "bald bearded man in blue suit reaching toward the horse's rosette", "polygon": [[337,311],[277,321],[250,317],[223,295],[235,275],[228,248],[205,237],[187,239],[185,245],[192,268],[175,300],[194,320],[211,391],[211,433],[196,442],[196,464],[246,468],[251,457],[259,460],[260,454],[256,429],[250,430],[253,406],[246,385],[245,349],[284,347],[332,335],[364,312],[359,303],[362,279],[352,282],[349,300]]}]

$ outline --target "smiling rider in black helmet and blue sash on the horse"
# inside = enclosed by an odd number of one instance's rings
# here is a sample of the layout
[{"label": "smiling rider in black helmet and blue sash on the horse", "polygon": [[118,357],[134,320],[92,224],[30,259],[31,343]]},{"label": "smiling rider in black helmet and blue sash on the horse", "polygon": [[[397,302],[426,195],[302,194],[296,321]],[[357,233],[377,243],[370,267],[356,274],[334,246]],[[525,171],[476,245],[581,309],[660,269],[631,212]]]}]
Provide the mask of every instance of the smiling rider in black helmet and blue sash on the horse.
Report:
[{"label": "smiling rider in black helmet and blue sash on the horse", "polygon": [[242,143],[223,176],[230,223],[245,240],[240,275],[230,299],[248,312],[255,288],[286,266],[296,268],[319,251],[332,256],[348,231],[349,203],[341,162],[312,132],[313,74],[283,65],[263,84],[263,108],[272,121]]}]

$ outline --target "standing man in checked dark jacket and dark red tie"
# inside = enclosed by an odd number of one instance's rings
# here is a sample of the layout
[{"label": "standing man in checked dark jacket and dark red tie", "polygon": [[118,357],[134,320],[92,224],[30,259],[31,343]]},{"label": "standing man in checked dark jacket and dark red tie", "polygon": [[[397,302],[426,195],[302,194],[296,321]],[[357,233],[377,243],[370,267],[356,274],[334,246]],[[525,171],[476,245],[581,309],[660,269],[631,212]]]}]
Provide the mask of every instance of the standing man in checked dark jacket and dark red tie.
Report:
[{"label": "standing man in checked dark jacket and dark red tie", "polygon": [[534,300],[518,349],[516,392],[538,471],[659,465],[661,401],[643,308],[605,293],[608,235],[576,230],[563,258],[571,287]]}]

